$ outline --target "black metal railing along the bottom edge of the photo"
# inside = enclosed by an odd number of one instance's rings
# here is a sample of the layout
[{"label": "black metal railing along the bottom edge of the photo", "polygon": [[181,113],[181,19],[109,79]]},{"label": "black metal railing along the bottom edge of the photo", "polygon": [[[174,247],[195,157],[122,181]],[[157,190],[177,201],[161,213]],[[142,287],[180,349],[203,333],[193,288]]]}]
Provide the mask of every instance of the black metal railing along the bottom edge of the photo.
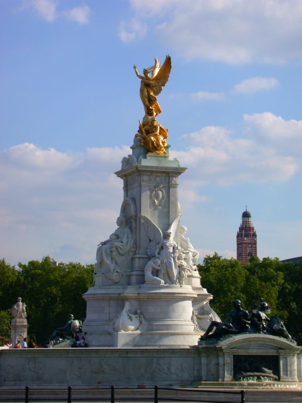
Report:
[{"label": "black metal railing along the bottom edge of the photo", "polygon": [[[66,389],[65,389],[66,390]],[[121,392],[124,391],[129,391],[131,390],[133,394],[136,394],[137,392],[142,392],[145,390],[153,390],[153,394],[150,393],[150,397],[142,397],[142,396],[131,396],[131,397],[121,397]],[[25,387],[25,394],[22,397],[21,394],[19,394],[19,397],[12,396],[11,398],[9,397],[9,393],[12,392],[12,394],[16,394],[16,392],[19,392],[20,390],[18,389],[7,389],[7,388],[2,388],[0,389],[1,396],[0,396],[0,402],[25,402],[25,403],[30,403],[30,402],[67,402],[67,403],[72,403],[72,402],[154,402],[154,403],[159,403],[159,402],[201,402],[201,403],[223,403],[223,402],[228,402],[228,403],[245,403],[245,392],[244,390],[217,390],[217,389],[187,389],[187,388],[165,388],[161,386],[154,386],[154,388],[116,388],[115,386],[107,387],[107,388],[99,388],[99,389],[81,389],[81,388],[76,388],[72,389],[71,386],[67,387],[65,397],[41,397],[38,396],[39,394],[47,394],[48,396],[50,395],[51,392],[63,392],[63,389],[43,389],[43,388],[30,388],[29,386]],[[108,391],[107,397],[104,396],[94,396],[94,397],[79,397],[76,395],[79,395],[78,392],[103,392],[103,391]],[[161,393],[161,391],[166,391],[166,393]],[[171,393],[167,393],[167,391],[170,391]],[[3,393],[4,392],[4,393]],[[74,392],[74,393],[73,393]],[[174,392],[174,393],[173,393]],[[186,396],[181,397],[181,392],[185,392]],[[6,396],[3,396],[6,394]],[[137,393],[138,395],[139,393]],[[207,396],[201,396],[201,394],[207,394]],[[222,400],[225,399],[225,397],[221,397],[222,399],[219,399],[218,396],[219,394],[224,394],[224,395],[233,395],[233,397],[230,397],[230,400]],[[54,396],[56,393],[54,394]],[[61,394],[63,395],[63,394]],[[91,395],[91,393],[90,393]],[[120,395],[120,396],[118,396]],[[172,396],[173,395],[173,396]],[[190,395],[190,398],[188,398],[188,395]],[[218,396],[217,396],[218,395]],[[125,396],[125,393],[124,393]],[[192,397],[192,398],[191,398]],[[218,400],[217,400],[218,399]]]}]

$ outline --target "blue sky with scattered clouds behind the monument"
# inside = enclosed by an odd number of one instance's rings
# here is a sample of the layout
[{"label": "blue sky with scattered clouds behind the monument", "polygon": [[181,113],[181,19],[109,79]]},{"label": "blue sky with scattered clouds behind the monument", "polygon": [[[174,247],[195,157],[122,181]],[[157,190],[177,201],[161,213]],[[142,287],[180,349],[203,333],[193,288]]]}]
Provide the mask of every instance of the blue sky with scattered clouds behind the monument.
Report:
[{"label": "blue sky with scattered clouds behind the monument", "polygon": [[188,167],[193,246],[236,257],[247,205],[260,257],[302,255],[300,0],[1,0],[0,15],[1,257],[94,262],[144,115],[133,64],[167,54],[157,121]]}]

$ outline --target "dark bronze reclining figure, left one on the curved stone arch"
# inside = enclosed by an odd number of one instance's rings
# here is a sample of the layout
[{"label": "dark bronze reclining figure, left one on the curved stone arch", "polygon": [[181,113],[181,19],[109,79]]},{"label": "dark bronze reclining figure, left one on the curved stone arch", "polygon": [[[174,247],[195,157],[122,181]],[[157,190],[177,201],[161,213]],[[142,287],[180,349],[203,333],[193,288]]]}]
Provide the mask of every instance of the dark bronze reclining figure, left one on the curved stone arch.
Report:
[{"label": "dark bronze reclining figure, left one on the curved stone arch", "polygon": [[[225,322],[212,321],[205,334],[200,338],[219,339],[228,334],[239,334],[249,329],[250,320],[247,310],[243,310],[240,300],[233,301],[234,310],[231,310]],[[215,328],[213,333],[211,331]]]}]

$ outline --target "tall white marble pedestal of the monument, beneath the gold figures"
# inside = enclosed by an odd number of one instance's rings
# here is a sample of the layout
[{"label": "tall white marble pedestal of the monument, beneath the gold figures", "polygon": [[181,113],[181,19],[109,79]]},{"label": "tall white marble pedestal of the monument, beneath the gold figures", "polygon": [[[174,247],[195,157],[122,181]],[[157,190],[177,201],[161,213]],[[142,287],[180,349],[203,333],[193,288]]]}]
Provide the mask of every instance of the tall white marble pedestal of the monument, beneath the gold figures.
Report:
[{"label": "tall white marble pedestal of the monument, beneath the gold figures", "polygon": [[[184,285],[148,284],[144,273],[151,259],[148,255],[151,241],[143,217],[148,217],[162,234],[181,217],[178,179],[186,168],[169,155],[146,155],[146,150],[144,154],[138,144],[132,149],[133,154],[123,158],[121,170],[116,172],[123,180],[120,214],[125,217],[127,231],[129,233],[130,229],[133,236],[132,254],[127,251],[118,255],[106,247],[107,256],[111,253],[121,269],[121,276],[114,282],[96,265],[95,285],[83,295],[87,301],[83,330],[88,333],[91,347],[194,345],[213,319],[209,307],[212,296],[202,288],[197,270],[187,274]],[[173,237],[179,244],[179,222]],[[114,321],[126,306],[125,315],[141,312],[143,327],[132,331],[115,330]],[[204,316],[199,329],[192,321],[193,310]]]}]

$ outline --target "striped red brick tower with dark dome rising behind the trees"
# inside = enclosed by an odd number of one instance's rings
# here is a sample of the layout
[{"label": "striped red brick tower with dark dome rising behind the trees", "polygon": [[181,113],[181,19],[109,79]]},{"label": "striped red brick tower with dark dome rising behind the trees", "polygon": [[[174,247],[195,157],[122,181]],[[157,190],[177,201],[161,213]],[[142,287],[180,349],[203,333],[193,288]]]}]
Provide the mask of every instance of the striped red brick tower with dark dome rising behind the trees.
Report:
[{"label": "striped red brick tower with dark dome rising behind the trees", "polygon": [[237,232],[237,260],[247,263],[251,256],[257,256],[257,234],[247,209],[242,213],[242,223]]}]

